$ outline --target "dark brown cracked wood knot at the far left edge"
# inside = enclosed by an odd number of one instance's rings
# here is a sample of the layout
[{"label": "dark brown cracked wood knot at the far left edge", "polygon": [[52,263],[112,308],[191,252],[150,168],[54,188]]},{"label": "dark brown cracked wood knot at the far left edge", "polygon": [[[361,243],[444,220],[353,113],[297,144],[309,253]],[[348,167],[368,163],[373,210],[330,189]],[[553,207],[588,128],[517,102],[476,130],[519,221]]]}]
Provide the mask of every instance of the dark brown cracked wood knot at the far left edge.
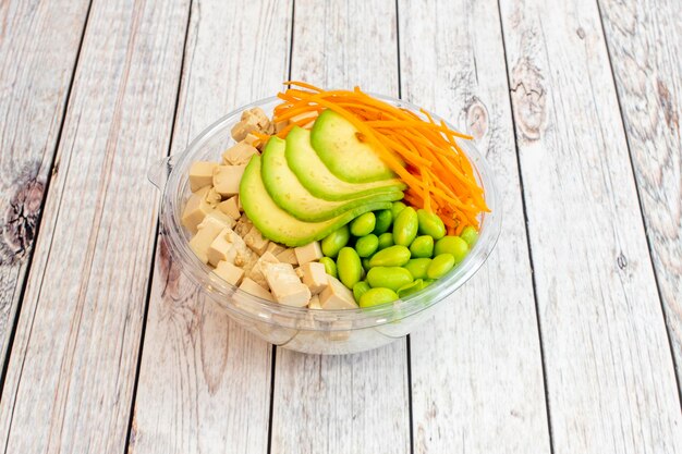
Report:
[{"label": "dark brown cracked wood knot at the far left edge", "polygon": [[45,183],[35,177],[17,185],[0,225],[0,265],[19,263],[31,251],[44,193]]}]

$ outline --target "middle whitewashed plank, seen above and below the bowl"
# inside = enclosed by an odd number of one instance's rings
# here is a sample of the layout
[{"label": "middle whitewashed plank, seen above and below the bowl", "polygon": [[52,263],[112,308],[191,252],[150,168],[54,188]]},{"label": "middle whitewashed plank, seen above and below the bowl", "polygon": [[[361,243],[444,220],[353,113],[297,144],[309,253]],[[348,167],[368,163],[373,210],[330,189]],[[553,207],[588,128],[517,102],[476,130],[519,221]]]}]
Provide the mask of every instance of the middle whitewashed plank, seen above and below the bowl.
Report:
[{"label": "middle whitewashed plank, seen above and below the bowl", "polygon": [[[398,95],[395,5],[295,4],[292,77]],[[272,453],[406,453],[405,341],[348,356],[277,351]]]}]

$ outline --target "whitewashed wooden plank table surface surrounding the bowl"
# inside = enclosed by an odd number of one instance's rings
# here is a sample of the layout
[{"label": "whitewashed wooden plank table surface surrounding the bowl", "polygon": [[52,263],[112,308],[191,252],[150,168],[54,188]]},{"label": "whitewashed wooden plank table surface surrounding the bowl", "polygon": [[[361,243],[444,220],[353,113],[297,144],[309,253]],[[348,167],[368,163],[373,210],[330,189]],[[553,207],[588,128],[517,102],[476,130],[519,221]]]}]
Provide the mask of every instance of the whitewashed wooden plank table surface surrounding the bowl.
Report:
[{"label": "whitewashed wooden plank table surface surrounding the bowl", "polygon": [[[5,453],[682,453],[678,0],[0,15]],[[147,169],[290,77],[439,112],[497,172],[497,249],[406,340],[272,347],[156,247]]]}]

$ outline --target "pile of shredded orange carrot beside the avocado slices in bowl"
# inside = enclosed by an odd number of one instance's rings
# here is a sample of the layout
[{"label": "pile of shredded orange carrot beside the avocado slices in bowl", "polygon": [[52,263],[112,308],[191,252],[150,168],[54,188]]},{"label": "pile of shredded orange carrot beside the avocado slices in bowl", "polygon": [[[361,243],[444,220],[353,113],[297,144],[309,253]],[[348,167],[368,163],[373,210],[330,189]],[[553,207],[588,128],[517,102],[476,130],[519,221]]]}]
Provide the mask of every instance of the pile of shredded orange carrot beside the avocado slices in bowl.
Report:
[{"label": "pile of shredded orange carrot beside the avocado slices in bowl", "polygon": [[[472,136],[448,127],[425,111],[411,111],[353,90],[324,90],[305,82],[287,81],[278,94],[275,122],[289,124],[277,136],[285,137],[294,126],[310,127],[322,110],[329,109],[358,131],[360,139],[406,185],[404,200],[437,213],[449,234],[467,225],[478,229],[478,216],[489,211],[474,168],[458,144]],[[264,143],[268,136],[257,135]]]}]

